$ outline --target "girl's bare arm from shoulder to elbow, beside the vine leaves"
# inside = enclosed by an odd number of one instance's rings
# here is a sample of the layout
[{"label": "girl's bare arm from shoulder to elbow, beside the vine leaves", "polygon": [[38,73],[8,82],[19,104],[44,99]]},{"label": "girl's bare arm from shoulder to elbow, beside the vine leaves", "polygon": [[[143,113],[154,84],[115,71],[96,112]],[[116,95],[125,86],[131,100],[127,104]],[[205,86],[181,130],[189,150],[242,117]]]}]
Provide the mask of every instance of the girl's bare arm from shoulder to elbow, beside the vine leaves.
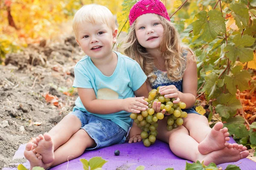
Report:
[{"label": "girl's bare arm from shoulder to elbow, beside the vine leaves", "polygon": [[189,52],[186,56],[187,68],[183,74],[182,92],[178,92],[181,102],[186,103],[186,108],[192,108],[195,105],[197,92],[197,67],[193,54]]}]

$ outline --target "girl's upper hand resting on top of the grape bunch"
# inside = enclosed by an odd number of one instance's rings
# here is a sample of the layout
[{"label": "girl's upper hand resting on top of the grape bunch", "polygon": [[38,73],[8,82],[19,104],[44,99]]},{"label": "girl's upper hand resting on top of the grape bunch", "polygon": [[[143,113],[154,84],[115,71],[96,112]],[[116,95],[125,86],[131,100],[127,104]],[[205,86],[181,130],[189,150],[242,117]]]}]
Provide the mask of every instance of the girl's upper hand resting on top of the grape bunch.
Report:
[{"label": "girl's upper hand resting on top of the grape bunch", "polygon": [[179,98],[179,93],[178,89],[176,88],[175,85],[168,85],[168,86],[163,86],[159,89],[159,93],[161,95],[164,95],[165,98],[175,98],[173,103],[179,103],[180,98]]}]

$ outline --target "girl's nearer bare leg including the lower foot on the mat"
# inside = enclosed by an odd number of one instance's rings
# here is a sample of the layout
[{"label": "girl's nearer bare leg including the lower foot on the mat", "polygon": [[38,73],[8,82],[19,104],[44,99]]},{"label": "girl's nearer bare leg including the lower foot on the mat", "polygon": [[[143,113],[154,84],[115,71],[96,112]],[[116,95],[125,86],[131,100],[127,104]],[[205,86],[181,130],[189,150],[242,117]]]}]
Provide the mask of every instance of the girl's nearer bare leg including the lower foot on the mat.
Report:
[{"label": "girl's nearer bare leg including the lower foot on the mat", "polygon": [[243,159],[248,156],[249,152],[246,147],[236,144],[236,148],[224,148],[222,150],[214,151],[207,155],[202,155],[198,151],[198,142],[189,136],[188,130],[184,126],[179,126],[171,131],[166,130],[167,118],[158,122],[157,139],[169,143],[172,152],[183,158],[193,162],[204,161],[204,164],[214,162],[221,164],[224,162],[233,162]]}]

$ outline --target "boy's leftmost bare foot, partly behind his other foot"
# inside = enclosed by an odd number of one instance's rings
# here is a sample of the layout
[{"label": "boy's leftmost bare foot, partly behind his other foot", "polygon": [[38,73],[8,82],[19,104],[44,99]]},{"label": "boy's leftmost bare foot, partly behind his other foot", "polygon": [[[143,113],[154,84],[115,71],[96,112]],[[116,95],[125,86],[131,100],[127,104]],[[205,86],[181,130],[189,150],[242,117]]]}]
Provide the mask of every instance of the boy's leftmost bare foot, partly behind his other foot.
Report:
[{"label": "boy's leftmost bare foot, partly behind his other foot", "polygon": [[32,170],[33,167],[44,167],[45,168],[44,162],[41,159],[38,159],[38,157],[36,156],[35,150],[32,150],[32,142],[29,142],[26,144],[24,156],[30,163],[30,170]]}]

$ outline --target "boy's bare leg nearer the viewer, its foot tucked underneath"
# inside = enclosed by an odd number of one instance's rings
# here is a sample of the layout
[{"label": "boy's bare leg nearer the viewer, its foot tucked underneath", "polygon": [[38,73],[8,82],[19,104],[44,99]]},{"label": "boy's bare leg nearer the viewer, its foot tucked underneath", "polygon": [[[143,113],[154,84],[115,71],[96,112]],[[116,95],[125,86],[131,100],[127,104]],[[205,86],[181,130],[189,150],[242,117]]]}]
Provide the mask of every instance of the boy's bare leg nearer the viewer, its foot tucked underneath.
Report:
[{"label": "boy's bare leg nearer the viewer, its foot tucked underneath", "polygon": [[[41,166],[44,167],[44,169],[47,169],[48,167],[56,166],[66,162],[67,160],[75,159],[81,156],[86,148],[93,147],[95,145],[96,143],[88,135],[88,133],[85,130],[80,129],[75,134],[73,134],[73,136],[71,136],[71,138],[65,144],[61,145],[54,151],[55,159],[51,163],[45,164],[41,160],[41,158],[43,159],[44,156],[47,155],[42,156],[39,153],[35,154],[35,152],[26,153],[25,157],[29,160],[31,168],[35,166]],[[35,159],[34,154],[37,156],[37,159]]]}]

